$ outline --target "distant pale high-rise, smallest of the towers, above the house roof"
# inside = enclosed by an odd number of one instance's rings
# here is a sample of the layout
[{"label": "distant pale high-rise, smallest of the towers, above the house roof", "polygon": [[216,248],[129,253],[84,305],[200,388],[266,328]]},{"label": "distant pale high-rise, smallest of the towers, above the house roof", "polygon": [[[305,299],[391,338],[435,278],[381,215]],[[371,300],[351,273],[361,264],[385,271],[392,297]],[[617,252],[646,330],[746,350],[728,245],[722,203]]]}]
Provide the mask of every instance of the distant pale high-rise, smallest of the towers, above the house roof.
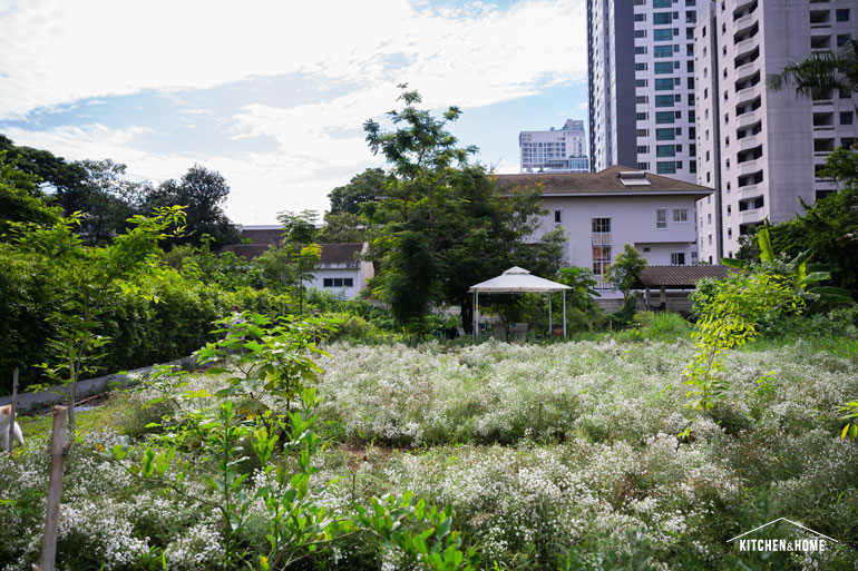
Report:
[{"label": "distant pale high-rise, smallest of the towers, above the house roof", "polygon": [[584,121],[567,119],[547,131],[521,131],[518,150],[521,173],[589,173]]}]

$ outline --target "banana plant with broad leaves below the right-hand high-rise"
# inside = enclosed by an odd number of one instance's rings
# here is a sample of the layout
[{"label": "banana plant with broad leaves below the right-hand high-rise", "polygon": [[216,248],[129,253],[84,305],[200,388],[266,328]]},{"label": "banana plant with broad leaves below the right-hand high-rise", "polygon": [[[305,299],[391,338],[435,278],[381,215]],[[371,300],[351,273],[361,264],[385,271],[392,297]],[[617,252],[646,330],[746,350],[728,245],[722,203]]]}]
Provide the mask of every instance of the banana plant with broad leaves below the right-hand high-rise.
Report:
[{"label": "banana plant with broad leaves below the right-hand high-rise", "polygon": [[[760,248],[761,264],[778,264],[781,256],[776,254],[771,245],[768,228],[757,230],[757,245]],[[851,296],[848,289],[832,286],[817,285],[831,279],[831,272],[837,269],[836,264],[809,264],[813,256],[811,250],[801,252],[798,256],[786,263],[784,273],[792,279],[792,284],[802,297],[808,302],[823,302],[828,304],[850,303]],[[747,259],[721,258],[721,263],[728,267],[748,270],[751,262]]]}]

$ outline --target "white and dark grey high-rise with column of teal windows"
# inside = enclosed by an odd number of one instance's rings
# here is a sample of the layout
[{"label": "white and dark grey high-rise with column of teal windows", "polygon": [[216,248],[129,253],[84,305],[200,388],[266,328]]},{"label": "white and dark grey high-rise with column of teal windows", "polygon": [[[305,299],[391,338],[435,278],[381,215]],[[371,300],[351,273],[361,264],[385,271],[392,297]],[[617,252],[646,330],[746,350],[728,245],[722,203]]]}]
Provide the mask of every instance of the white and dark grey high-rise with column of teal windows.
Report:
[{"label": "white and dark grey high-rise with column of teal windows", "polygon": [[696,181],[694,24],[702,0],[587,0],[593,168]]}]

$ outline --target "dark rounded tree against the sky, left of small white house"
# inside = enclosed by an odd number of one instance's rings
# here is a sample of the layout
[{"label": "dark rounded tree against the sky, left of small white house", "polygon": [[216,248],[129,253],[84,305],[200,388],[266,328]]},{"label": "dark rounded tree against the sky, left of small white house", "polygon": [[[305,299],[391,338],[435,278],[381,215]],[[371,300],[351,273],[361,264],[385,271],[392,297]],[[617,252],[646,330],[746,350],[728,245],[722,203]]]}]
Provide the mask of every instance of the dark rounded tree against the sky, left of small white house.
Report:
[{"label": "dark rounded tree against the sky, left of small white house", "polygon": [[166,240],[166,246],[194,244],[199,246],[204,235],[213,238],[212,249],[241,239],[238,228],[224,213],[223,206],[230,195],[230,185],[216,170],[194,165],[179,179],[169,179],[152,188],[144,198],[145,209],[164,206],[184,206],[186,215],[185,234]]}]

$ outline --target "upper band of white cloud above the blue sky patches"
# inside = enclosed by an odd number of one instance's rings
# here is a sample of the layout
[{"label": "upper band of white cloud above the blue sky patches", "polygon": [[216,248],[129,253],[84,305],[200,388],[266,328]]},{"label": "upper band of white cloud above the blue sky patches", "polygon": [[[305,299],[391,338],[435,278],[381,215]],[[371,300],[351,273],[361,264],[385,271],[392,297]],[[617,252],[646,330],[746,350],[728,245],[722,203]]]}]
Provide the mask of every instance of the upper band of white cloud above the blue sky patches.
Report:
[{"label": "upper band of white cloud above the blue sky patches", "polygon": [[470,107],[585,72],[583,0],[525,0],[504,11],[407,0],[10,2],[0,8],[0,52],[13,55],[0,62],[0,117],[296,71],[368,86],[409,81],[430,104]]}]

